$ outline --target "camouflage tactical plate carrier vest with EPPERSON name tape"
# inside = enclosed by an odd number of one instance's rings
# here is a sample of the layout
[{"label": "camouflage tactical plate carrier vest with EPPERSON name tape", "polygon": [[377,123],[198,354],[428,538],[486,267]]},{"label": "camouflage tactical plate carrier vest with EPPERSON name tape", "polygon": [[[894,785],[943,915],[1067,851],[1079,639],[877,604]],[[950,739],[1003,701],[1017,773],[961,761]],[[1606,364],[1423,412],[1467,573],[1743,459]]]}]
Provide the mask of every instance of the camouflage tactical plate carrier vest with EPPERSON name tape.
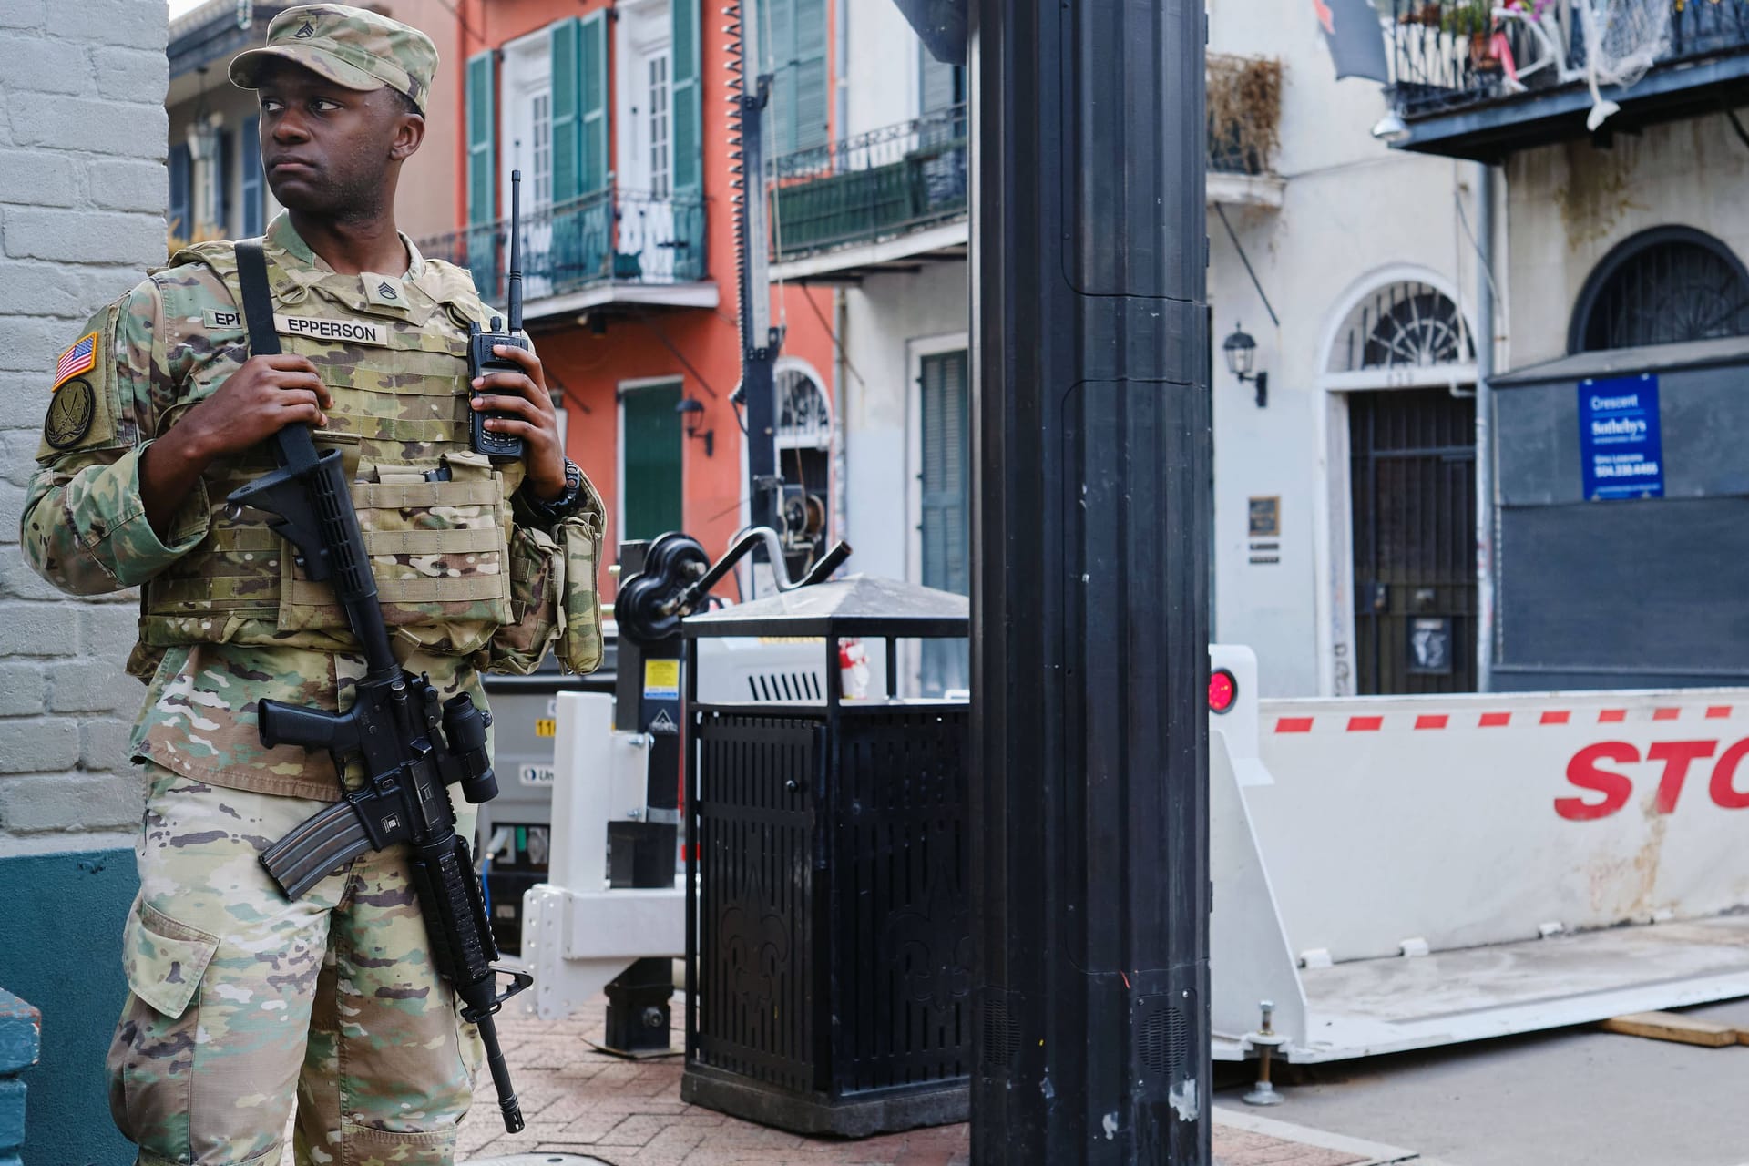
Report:
[{"label": "camouflage tactical plate carrier vest with EPPERSON name tape", "polygon": [[[418,280],[383,280],[373,290],[357,274],[285,271],[273,257],[269,246],[276,330],[283,350],[308,357],[334,395],[327,428],[313,435],[318,448],[343,451],[387,624],[425,652],[483,649],[512,622],[509,500],[523,465],[495,467],[469,449],[467,327],[488,315],[472,280],[460,267],[423,260]],[[171,262],[205,264],[241,304],[231,243],[189,246]],[[206,323],[215,346],[224,336],[247,357],[241,309],[208,313]],[[210,397],[240,358],[212,364],[159,432]],[[269,468],[262,448],[206,470],[210,533],[145,586],[143,645],[224,643],[273,631],[287,647],[355,647],[329,586],[310,580],[264,516],[227,512],[231,489]],[[537,572],[549,558],[516,556],[516,566]]]}]

